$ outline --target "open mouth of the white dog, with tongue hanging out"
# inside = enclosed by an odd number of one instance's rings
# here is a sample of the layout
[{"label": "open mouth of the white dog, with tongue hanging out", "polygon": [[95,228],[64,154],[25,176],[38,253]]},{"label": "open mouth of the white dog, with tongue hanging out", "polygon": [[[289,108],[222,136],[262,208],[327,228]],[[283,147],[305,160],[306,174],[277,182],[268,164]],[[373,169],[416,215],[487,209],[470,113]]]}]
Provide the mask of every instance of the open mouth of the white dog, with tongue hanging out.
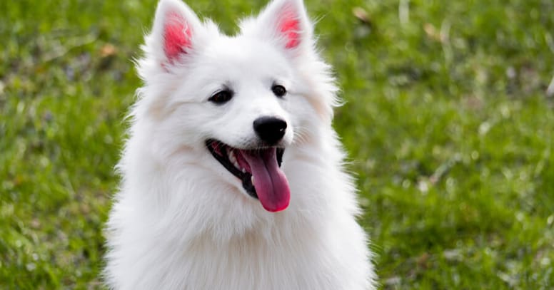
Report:
[{"label": "open mouth of the white dog, with tongue hanging out", "polygon": [[291,190],[281,170],[283,152],[280,147],[243,150],[218,140],[207,140],[206,147],[223,167],[242,182],[244,190],[269,212],[288,207]]}]

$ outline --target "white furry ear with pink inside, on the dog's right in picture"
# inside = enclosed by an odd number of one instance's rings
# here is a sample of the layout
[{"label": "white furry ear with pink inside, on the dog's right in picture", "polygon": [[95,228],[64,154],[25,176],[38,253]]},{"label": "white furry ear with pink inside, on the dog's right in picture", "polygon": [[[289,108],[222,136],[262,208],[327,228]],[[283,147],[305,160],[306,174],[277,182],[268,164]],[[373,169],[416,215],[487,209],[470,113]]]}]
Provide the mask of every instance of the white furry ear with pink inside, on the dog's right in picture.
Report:
[{"label": "white furry ear with pink inside, on the dog's right in picture", "polygon": [[243,33],[274,41],[292,55],[313,46],[313,27],[302,0],[273,0],[253,23],[247,20],[242,26]]}]

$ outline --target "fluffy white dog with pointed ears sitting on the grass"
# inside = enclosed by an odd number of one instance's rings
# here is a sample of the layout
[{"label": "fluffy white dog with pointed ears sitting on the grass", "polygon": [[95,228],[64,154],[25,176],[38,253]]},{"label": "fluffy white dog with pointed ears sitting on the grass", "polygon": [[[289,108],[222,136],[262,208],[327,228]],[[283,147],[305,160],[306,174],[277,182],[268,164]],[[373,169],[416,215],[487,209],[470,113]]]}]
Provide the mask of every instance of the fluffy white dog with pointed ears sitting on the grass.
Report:
[{"label": "fluffy white dog with pointed ears sitting on the grass", "polygon": [[375,289],[301,0],[226,36],[161,0],[106,224],[110,289]]}]

